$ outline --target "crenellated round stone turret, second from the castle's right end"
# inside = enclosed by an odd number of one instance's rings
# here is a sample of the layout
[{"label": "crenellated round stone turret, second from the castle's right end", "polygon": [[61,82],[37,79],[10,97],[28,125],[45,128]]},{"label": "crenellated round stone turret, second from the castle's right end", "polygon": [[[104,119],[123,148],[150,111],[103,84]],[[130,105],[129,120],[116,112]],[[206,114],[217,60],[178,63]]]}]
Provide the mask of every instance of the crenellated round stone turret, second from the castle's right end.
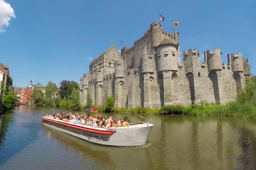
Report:
[{"label": "crenellated round stone turret, second from the castle's right end", "polygon": [[231,61],[232,71],[243,71],[243,55],[242,53],[237,53],[237,55],[228,54],[229,61]]}]

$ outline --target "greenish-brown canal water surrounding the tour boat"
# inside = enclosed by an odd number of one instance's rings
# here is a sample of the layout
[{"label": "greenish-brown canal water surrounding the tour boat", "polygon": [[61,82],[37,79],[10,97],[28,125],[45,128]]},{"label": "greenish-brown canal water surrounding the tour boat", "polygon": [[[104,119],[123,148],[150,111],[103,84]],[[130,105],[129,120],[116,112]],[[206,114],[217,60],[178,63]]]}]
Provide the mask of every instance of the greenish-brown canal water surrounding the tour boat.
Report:
[{"label": "greenish-brown canal water surrounding the tour boat", "polygon": [[255,119],[144,115],[154,124],[147,144],[109,147],[41,124],[47,112],[63,111],[19,106],[0,115],[0,170],[256,169]]}]

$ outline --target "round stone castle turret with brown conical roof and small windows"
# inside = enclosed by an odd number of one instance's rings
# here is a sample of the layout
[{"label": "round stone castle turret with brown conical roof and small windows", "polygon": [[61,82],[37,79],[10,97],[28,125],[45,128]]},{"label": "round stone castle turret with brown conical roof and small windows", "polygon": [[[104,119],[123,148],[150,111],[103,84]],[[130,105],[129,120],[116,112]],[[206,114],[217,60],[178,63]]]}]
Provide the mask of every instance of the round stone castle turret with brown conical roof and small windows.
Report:
[{"label": "round stone castle turret with brown conical roof and small windows", "polygon": [[178,71],[178,45],[164,39],[155,49],[157,52],[157,72]]}]

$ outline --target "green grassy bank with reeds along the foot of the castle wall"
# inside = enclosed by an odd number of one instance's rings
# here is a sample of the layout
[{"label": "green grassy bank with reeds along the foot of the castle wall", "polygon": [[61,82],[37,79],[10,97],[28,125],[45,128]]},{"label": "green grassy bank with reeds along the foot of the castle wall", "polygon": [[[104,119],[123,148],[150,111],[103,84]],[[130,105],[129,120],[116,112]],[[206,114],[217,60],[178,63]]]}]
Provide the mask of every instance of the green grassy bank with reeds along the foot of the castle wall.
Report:
[{"label": "green grassy bank with reeds along the foot of the castle wall", "polygon": [[[105,111],[104,107],[96,107],[96,109]],[[225,105],[201,102],[200,105],[193,104],[191,106],[168,105],[157,109],[140,106],[135,108],[113,108],[112,110],[113,112],[130,112],[137,114],[154,113],[219,117],[256,117],[256,77],[246,78],[245,88],[238,93],[236,101]]]}]

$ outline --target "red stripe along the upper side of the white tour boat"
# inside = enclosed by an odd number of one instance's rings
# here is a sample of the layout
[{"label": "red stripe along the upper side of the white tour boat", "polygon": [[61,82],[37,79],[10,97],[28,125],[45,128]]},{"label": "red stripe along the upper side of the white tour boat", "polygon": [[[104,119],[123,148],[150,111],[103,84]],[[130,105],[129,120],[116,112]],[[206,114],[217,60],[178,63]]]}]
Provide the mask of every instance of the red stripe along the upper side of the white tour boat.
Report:
[{"label": "red stripe along the upper side of the white tour boat", "polygon": [[86,127],[80,127],[78,125],[70,125],[69,123],[66,123],[66,122],[59,122],[57,120],[46,119],[44,117],[42,117],[42,119],[50,121],[50,122],[58,123],[58,124],[61,124],[61,125],[67,125],[67,126],[72,127],[72,128],[77,128],[77,129],[80,129],[80,130],[93,132],[93,133],[99,133],[99,134],[104,134],[104,135],[113,135],[114,133],[116,133],[116,131],[106,132],[104,130],[97,130],[97,129],[91,129],[91,128],[86,128]]}]

